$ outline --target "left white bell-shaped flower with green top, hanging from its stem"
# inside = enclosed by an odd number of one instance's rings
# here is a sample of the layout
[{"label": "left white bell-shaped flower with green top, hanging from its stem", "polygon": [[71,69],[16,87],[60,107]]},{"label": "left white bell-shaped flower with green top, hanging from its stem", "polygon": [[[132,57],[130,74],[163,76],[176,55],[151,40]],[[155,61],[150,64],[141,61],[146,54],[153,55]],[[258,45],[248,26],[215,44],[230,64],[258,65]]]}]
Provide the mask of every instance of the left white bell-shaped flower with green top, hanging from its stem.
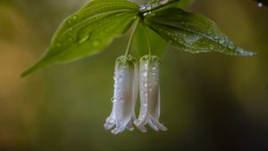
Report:
[{"label": "left white bell-shaped flower with green top, hanging from its stem", "polygon": [[115,61],[113,109],[106,119],[105,129],[113,134],[134,128],[135,104],[138,97],[138,66],[131,56],[121,56]]}]

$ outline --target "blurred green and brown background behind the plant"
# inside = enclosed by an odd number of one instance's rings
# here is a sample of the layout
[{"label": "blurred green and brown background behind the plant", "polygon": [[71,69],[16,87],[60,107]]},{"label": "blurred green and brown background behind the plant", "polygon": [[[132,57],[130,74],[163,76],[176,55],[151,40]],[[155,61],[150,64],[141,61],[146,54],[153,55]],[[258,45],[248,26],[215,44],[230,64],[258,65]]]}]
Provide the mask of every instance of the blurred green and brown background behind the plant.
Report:
[{"label": "blurred green and brown background behind the plant", "polygon": [[0,0],[0,150],[268,150],[268,8],[252,0],[197,0],[205,14],[255,57],[192,55],[168,47],[161,72],[169,130],[113,135],[114,60],[127,44],[20,78],[59,23],[85,0]]}]

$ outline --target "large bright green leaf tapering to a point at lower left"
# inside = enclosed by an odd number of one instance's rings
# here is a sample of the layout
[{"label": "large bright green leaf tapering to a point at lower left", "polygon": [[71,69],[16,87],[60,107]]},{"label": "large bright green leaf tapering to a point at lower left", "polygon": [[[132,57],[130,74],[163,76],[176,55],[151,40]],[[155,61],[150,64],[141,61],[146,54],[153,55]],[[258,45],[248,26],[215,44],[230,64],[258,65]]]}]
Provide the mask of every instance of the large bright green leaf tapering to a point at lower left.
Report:
[{"label": "large bright green leaf tapering to a point at lower left", "polygon": [[21,76],[102,51],[137,19],[138,5],[126,0],[91,0],[63,21],[46,55]]}]

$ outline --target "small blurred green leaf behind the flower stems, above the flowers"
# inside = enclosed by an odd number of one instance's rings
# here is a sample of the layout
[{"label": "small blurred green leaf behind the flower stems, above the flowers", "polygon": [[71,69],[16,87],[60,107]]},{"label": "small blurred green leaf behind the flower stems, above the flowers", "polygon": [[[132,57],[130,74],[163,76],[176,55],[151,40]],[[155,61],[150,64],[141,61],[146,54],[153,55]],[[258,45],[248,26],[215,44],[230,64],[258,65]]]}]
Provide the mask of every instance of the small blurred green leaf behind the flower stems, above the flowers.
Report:
[{"label": "small blurred green leaf behind the flower stems, above the flowers", "polygon": [[[148,54],[147,38],[145,35],[144,28],[142,26],[145,25],[139,24],[133,39],[133,47],[138,55],[138,58]],[[155,31],[150,28],[148,28],[147,30],[147,35],[149,37],[149,44],[151,46],[152,54],[156,56],[162,56],[163,51],[166,47],[166,42],[161,36],[158,36]]]}]

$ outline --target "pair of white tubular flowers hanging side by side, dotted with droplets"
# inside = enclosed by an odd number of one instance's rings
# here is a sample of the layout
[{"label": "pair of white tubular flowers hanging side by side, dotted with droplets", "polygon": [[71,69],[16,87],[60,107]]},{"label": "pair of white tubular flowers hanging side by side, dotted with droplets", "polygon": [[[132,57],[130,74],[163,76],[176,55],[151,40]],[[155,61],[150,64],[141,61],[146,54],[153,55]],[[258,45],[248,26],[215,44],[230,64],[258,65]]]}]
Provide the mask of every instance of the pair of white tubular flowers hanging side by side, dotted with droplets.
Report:
[{"label": "pair of white tubular flowers hanging side by side, dotted with droplets", "polygon": [[[121,56],[115,61],[113,110],[105,122],[105,129],[113,134],[125,129],[133,131],[134,123],[140,131],[146,132],[148,125],[155,131],[166,131],[163,123],[159,123],[160,116],[160,87],[159,87],[160,59],[146,55],[138,63],[131,56]],[[138,99],[138,85],[140,97],[140,111],[138,119],[135,115],[135,105]]]}]

